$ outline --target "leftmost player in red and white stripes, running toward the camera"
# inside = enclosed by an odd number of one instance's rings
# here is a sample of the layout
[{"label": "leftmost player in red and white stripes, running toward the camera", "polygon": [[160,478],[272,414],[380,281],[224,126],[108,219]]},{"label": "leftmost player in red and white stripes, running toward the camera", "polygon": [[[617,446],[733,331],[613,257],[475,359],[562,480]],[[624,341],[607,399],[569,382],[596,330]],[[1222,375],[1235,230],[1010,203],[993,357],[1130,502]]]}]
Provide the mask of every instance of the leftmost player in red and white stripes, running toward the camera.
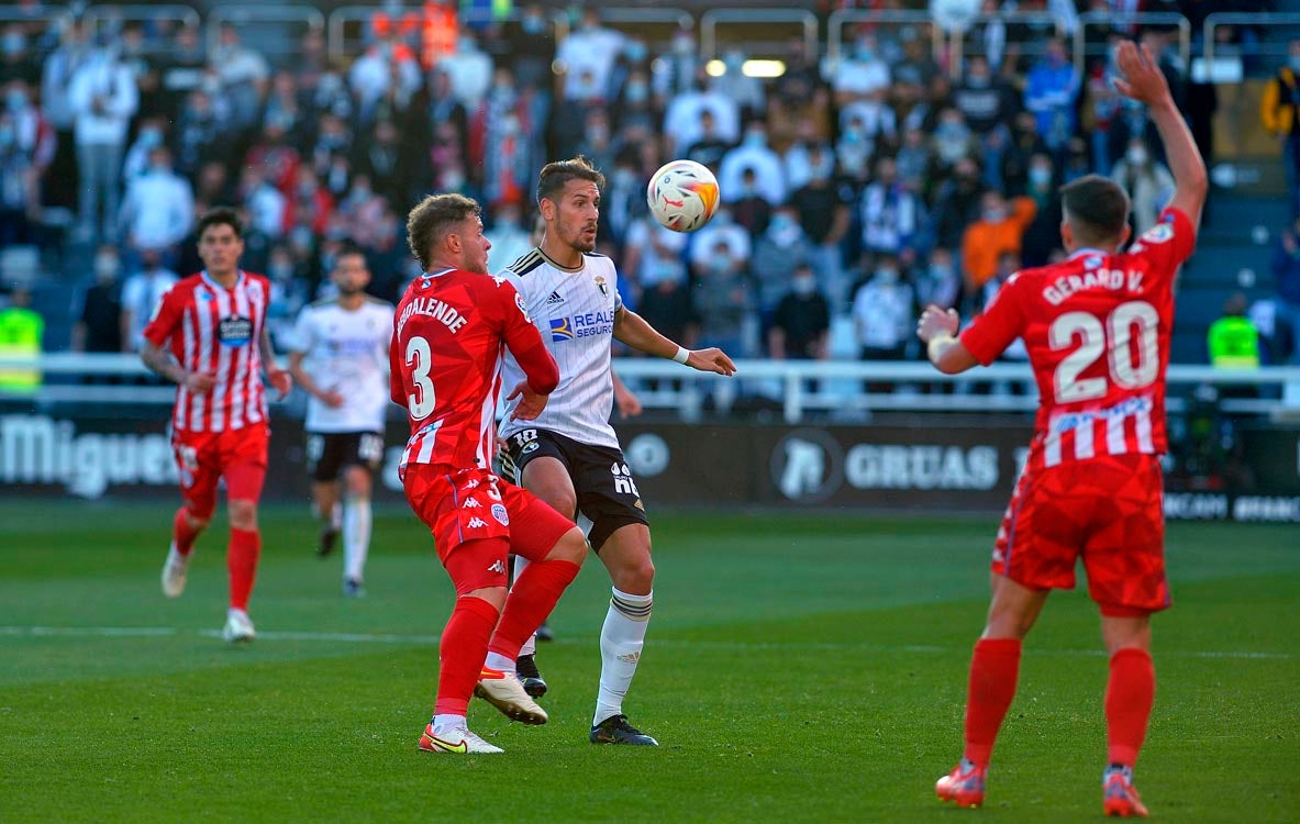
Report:
[{"label": "leftmost player in red and white stripes, running toward the camera", "polygon": [[266,395],[263,365],[281,396],[292,380],[276,368],[266,334],[270,283],[239,269],[243,233],[234,209],[199,218],[199,257],[205,266],[166,292],[144,329],[140,359],[177,383],[172,448],[182,504],[172,521],[172,548],[162,565],[162,593],[185,591],[194,541],[217,506],[225,478],[230,508],[230,608],[221,637],[252,641],[248,595],[261,554],[257,499],[266,476]]}]

